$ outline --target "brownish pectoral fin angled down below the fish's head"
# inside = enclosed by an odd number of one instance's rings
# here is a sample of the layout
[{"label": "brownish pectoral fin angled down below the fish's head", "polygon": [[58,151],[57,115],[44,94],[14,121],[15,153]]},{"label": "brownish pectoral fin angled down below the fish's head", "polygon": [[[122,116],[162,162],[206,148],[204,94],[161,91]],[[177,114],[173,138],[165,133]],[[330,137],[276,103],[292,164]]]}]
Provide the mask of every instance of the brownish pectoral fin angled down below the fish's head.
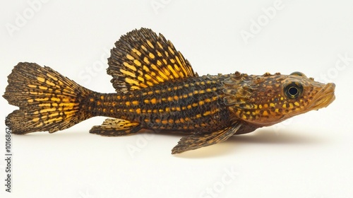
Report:
[{"label": "brownish pectoral fin angled down below the fish's head", "polygon": [[203,146],[210,146],[225,141],[234,135],[241,127],[241,124],[235,123],[232,127],[227,127],[217,132],[199,133],[196,132],[180,139],[177,146],[172,149],[172,154],[182,153],[184,151],[194,150]]}]

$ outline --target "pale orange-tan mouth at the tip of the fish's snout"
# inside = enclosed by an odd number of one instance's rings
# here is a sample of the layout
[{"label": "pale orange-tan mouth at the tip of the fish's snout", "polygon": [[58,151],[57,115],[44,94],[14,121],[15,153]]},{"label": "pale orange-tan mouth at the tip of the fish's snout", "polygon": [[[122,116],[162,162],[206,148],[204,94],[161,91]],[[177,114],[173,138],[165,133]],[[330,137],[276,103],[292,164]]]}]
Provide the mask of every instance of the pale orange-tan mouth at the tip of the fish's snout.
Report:
[{"label": "pale orange-tan mouth at the tip of the fish's snout", "polygon": [[335,100],[335,83],[327,83],[321,91],[316,93],[316,97],[313,98],[313,104],[309,106],[309,110],[318,110],[323,107],[330,105]]}]

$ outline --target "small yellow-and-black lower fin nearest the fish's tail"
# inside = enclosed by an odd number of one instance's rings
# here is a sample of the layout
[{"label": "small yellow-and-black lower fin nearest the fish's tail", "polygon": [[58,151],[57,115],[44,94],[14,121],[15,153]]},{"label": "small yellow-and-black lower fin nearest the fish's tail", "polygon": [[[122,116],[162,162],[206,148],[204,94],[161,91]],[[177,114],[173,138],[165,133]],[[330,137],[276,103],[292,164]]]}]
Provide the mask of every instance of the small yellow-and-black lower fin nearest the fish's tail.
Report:
[{"label": "small yellow-and-black lower fin nearest the fish's tail", "polygon": [[140,129],[140,124],[137,122],[108,118],[101,125],[92,127],[90,133],[102,136],[125,136],[136,133]]}]

